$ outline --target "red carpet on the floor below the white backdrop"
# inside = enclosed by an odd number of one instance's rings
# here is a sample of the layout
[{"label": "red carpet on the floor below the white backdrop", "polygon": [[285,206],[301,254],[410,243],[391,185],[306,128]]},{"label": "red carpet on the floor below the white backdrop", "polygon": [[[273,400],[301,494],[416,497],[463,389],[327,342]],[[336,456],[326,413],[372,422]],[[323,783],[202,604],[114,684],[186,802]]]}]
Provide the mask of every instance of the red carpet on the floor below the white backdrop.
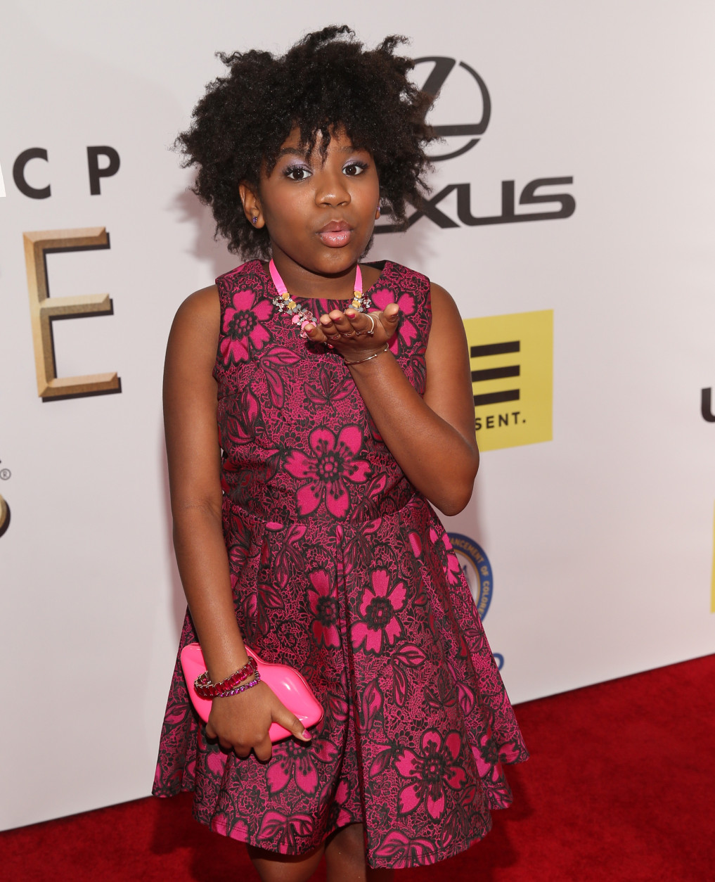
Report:
[{"label": "red carpet on the floor below the white backdrop", "polygon": [[[396,882],[712,882],[713,684],[710,655],[518,706],[533,758],[510,768],[514,806],[464,855]],[[257,879],[242,845],[196,824],[189,803],[142,799],[0,833],[0,872]]]}]

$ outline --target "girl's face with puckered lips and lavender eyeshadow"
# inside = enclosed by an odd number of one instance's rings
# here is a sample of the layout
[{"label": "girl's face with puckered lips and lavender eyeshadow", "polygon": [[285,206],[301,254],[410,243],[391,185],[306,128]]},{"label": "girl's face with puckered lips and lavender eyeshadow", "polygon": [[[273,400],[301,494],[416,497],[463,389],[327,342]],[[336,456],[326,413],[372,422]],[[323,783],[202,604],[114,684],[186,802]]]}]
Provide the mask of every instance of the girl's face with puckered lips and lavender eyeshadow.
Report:
[{"label": "girl's face with puckered lips and lavender eyeshadow", "polygon": [[277,265],[335,275],[353,267],[369,243],[380,184],[371,154],[345,131],[332,133],[324,159],[319,147],[320,135],[305,153],[295,129],[257,194],[242,191],[242,198],[249,219],[258,214],[257,226],[268,228]]}]

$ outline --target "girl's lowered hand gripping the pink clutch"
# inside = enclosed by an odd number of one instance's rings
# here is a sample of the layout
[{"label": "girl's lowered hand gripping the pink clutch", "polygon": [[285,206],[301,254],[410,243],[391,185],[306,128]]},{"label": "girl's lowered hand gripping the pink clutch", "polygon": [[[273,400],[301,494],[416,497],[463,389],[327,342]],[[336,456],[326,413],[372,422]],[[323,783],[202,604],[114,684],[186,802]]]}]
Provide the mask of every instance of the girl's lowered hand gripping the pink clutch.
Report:
[{"label": "girl's lowered hand gripping the pink clutch", "polygon": [[245,758],[254,751],[257,759],[271,759],[268,729],[272,722],[288,729],[300,741],[310,741],[308,729],[264,683],[239,695],[213,699],[206,736],[218,738],[221,747],[235,751],[239,757]]}]

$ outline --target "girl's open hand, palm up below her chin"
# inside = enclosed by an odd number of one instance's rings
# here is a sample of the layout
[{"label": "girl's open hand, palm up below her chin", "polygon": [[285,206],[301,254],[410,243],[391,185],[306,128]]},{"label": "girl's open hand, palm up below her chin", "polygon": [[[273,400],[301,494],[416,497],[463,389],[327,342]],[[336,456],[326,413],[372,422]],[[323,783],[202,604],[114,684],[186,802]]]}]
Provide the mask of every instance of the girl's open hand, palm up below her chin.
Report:
[{"label": "girl's open hand, palm up below her chin", "polygon": [[[374,326],[369,317],[375,322]],[[312,342],[327,343],[352,362],[382,351],[397,331],[398,319],[397,303],[388,303],[382,312],[358,312],[348,307],[344,312],[332,310],[321,316],[317,325],[310,323],[303,330]]]}]

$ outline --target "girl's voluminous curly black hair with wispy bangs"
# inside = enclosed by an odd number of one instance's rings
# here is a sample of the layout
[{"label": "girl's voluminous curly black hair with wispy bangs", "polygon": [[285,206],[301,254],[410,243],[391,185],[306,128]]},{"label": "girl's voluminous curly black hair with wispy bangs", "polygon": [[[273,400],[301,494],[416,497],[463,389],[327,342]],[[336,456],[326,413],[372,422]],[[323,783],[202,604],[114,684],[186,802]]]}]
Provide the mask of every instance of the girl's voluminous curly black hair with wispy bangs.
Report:
[{"label": "girl's voluminous curly black hair with wispy bangs", "polygon": [[419,206],[428,191],[424,147],[434,136],[424,118],[432,97],[407,79],[414,63],[394,55],[404,37],[364,49],[343,26],[308,34],[285,56],[251,50],[218,53],[226,77],[207,86],[190,129],[176,138],[184,167],[198,166],[193,191],[211,206],[216,234],[246,258],[270,256],[268,231],[253,228],[242,211],[238,184],[258,185],[261,168],[274,168],[294,128],[309,153],[320,135],[342,128],[372,154],[383,212],[401,226],[406,203]]}]

